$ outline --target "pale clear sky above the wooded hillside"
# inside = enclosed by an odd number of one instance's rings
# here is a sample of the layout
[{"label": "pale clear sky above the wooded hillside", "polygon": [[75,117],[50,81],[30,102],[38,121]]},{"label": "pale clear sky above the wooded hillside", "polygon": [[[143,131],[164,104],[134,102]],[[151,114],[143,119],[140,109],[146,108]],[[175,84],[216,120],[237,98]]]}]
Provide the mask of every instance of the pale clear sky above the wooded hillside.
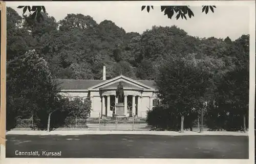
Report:
[{"label": "pale clear sky above the wooded hillside", "polygon": [[[17,6],[24,5],[22,3],[8,2],[7,7],[12,7],[22,15],[22,9],[17,9]],[[154,10],[151,9],[150,13],[147,13],[146,10],[141,11],[141,5],[127,5],[120,2],[104,5],[93,2],[79,4],[69,2],[69,5],[63,2],[47,2],[44,6],[48,14],[57,21],[65,18],[67,14],[80,13],[92,16],[98,24],[107,19],[115,22],[126,32],[138,32],[140,34],[151,29],[154,25],[163,27],[176,25],[189,35],[200,38],[214,36],[224,39],[229,36],[231,40],[236,40],[243,34],[249,34],[250,13],[248,6],[220,5],[215,9],[215,13],[209,11],[208,14],[202,13],[201,6],[190,6],[195,17],[187,20],[176,20],[175,17],[167,18],[167,15],[161,12],[160,6],[154,6]]]}]

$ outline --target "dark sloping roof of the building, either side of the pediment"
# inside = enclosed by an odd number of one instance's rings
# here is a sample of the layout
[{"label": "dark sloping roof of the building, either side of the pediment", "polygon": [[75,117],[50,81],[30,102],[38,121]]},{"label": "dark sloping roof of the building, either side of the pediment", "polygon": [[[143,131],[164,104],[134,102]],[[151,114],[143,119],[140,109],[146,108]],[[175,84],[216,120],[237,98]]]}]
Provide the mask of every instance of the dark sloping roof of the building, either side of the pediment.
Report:
[{"label": "dark sloping roof of the building, either side of the pediment", "polygon": [[[55,80],[61,89],[88,89],[94,85],[100,84],[106,80],[73,80],[73,79],[56,79]],[[142,84],[145,84],[149,87],[155,88],[153,80],[136,80]],[[127,87],[132,86],[129,83],[122,83]],[[117,86],[118,83],[114,83],[111,86]]]}]

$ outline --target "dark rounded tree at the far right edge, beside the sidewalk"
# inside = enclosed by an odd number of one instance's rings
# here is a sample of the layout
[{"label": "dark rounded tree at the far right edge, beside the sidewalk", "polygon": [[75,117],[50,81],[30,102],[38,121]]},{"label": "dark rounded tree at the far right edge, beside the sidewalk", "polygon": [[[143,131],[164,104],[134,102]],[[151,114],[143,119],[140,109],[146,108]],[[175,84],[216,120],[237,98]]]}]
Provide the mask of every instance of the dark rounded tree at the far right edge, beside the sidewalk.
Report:
[{"label": "dark rounded tree at the far right edge, beside the sidewalk", "polygon": [[219,108],[226,107],[226,112],[237,118],[236,127],[228,127],[231,130],[239,130],[242,126],[246,132],[246,118],[249,112],[249,69],[237,67],[224,76],[218,86]]}]

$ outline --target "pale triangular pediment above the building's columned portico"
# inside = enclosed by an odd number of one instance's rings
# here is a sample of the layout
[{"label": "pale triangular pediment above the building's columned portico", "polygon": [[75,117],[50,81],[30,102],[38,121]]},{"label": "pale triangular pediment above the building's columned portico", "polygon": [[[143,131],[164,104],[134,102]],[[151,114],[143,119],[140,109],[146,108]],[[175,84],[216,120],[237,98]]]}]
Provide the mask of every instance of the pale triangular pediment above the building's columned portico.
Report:
[{"label": "pale triangular pediment above the building's columned portico", "polygon": [[138,89],[150,89],[154,90],[154,88],[147,86],[143,83],[140,83],[131,78],[127,78],[125,76],[118,76],[116,78],[110,79],[108,81],[102,82],[95,86],[89,88],[89,90],[100,89],[100,88],[116,88],[119,85],[119,82],[122,82],[124,88],[138,88]]}]

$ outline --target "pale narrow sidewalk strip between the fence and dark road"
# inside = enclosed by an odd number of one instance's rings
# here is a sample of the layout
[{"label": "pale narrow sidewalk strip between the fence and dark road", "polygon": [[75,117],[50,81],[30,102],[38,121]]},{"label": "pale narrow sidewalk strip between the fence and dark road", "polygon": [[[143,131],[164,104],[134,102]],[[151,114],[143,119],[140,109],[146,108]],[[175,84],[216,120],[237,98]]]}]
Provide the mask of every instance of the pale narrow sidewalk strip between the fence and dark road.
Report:
[{"label": "pale narrow sidewalk strip between the fence and dark road", "polygon": [[100,131],[100,130],[55,130],[55,131],[32,131],[32,130],[11,130],[6,135],[86,135],[86,134],[147,134],[147,135],[234,135],[248,136],[248,132],[228,132],[228,131],[204,131],[202,133],[195,131],[184,131],[184,133],[175,131]]}]

